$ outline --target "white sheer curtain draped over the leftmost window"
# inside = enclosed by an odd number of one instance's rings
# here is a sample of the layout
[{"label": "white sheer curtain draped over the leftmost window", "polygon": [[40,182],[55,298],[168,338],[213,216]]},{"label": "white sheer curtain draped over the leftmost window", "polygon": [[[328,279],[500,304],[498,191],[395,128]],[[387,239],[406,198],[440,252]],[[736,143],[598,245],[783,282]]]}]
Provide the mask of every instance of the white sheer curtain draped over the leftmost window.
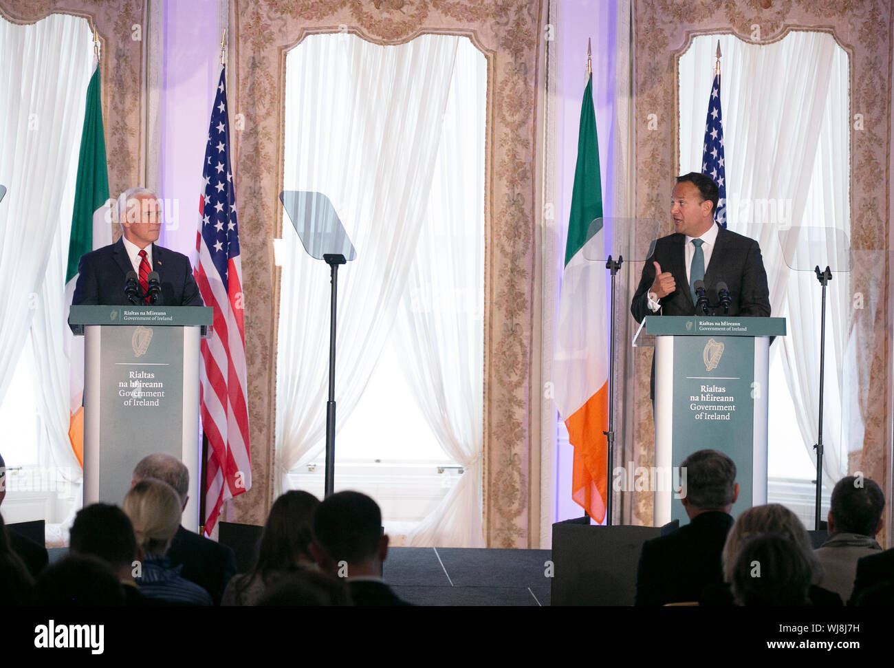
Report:
[{"label": "white sheer curtain draped over the leftmost window", "polygon": [[80,465],[68,439],[64,269],[92,58],[84,19],[54,14],[21,26],[0,18],[0,183],[9,189],[0,204],[0,402],[30,331],[38,462],[68,469],[69,482]]}]

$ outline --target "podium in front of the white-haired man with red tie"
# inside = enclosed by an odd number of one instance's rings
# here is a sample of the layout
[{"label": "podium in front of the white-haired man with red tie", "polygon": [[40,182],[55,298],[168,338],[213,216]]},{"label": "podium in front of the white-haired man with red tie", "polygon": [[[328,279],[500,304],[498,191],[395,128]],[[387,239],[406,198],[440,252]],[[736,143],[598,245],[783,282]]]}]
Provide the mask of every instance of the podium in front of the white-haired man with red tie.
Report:
[{"label": "podium in front of the white-haired man with red tie", "polygon": [[198,531],[199,338],[207,307],[72,306],[84,334],[84,505],[121,505],[143,457],[165,452],[190,471],[182,524]]}]

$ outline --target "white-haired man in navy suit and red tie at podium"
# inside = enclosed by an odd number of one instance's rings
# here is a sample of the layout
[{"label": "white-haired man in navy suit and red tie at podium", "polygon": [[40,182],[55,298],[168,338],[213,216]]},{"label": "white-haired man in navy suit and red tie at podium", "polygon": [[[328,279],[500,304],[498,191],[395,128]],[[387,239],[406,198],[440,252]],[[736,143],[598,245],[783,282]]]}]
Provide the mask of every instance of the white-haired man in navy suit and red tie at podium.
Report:
[{"label": "white-haired man in navy suit and red tie at podium", "polygon": [[[72,304],[131,304],[124,287],[127,275],[136,272],[140,291],[148,290],[148,275],[158,274],[161,291],[157,306],[204,306],[185,255],[156,245],[161,230],[161,205],[151,190],[131,188],[115,203],[122,238],[85,253],[78,265],[78,282]],[[138,299],[139,305],[146,304]]]}]

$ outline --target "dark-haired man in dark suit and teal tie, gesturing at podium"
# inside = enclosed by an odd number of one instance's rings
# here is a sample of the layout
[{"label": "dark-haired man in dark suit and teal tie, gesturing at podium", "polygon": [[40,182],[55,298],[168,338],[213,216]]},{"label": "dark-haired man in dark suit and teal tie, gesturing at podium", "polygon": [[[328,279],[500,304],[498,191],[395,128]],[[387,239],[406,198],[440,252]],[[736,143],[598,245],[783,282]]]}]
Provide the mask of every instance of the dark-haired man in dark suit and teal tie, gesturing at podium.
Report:
[{"label": "dark-haired man in dark suit and teal tie, gesturing at podium", "polygon": [[[709,302],[720,303],[717,286],[726,283],[730,307],[717,315],[770,316],[770,292],[757,241],[714,222],[720,191],[704,174],[679,176],[671,194],[674,233],[655,241],[646,258],[630,313],[646,316],[696,315],[696,281],[702,280]],[[699,311],[701,314],[701,311]],[[650,395],[654,398],[654,359]]]}]

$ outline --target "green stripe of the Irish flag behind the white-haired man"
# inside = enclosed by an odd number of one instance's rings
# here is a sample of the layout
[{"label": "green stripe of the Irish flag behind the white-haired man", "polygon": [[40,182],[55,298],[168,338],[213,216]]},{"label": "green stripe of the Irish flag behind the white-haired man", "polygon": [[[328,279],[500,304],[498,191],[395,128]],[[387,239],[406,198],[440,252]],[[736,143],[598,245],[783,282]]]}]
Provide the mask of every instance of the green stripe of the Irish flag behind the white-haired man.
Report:
[{"label": "green stripe of the Irish flag behind the white-haired man", "polygon": [[99,95],[99,67],[87,88],[84,130],[80,136],[78,180],[74,190],[72,236],[68,246],[65,283],[78,274],[80,256],[93,249],[93,213],[109,199],[109,176],[105,162],[103,109]]}]

